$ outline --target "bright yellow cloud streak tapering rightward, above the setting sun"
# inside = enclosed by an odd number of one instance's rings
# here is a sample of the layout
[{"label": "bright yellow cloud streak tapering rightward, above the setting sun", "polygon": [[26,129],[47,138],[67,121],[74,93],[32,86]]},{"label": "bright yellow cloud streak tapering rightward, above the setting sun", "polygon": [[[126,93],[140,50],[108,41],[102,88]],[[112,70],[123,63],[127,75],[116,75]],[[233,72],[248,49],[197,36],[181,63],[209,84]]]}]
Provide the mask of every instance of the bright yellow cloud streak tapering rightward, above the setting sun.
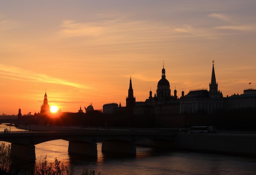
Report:
[{"label": "bright yellow cloud streak tapering rightward, above the setting sun", "polygon": [[89,88],[85,85],[73,83],[70,81],[65,81],[63,79],[58,79],[46,74],[38,74],[36,72],[31,72],[29,70],[24,70],[19,67],[0,64],[0,76],[6,79],[13,79],[19,81],[30,81],[30,82],[44,82],[53,84],[69,85],[76,88]]}]

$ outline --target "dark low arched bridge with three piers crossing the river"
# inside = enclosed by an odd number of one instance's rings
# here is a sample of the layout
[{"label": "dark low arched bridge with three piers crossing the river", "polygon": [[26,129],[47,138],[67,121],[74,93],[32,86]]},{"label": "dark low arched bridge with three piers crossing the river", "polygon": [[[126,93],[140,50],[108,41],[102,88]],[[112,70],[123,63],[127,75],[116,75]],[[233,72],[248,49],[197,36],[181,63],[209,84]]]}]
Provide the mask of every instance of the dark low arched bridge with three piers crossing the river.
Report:
[{"label": "dark low arched bridge with three piers crossing the river", "polygon": [[35,161],[35,145],[45,141],[67,140],[68,153],[97,157],[98,142],[102,142],[102,152],[136,155],[138,141],[150,139],[155,146],[166,146],[175,135],[163,130],[14,131],[0,132],[0,141],[11,143],[12,156]]}]

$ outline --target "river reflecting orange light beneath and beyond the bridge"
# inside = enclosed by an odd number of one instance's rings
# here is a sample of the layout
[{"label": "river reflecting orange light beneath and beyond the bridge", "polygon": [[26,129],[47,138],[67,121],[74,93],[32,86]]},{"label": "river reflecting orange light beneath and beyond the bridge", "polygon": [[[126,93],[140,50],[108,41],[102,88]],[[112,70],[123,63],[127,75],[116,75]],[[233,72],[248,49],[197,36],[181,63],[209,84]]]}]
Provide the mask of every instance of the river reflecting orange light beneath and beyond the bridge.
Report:
[{"label": "river reflecting orange light beneath and beyond the bridge", "polygon": [[[11,131],[14,126],[0,125]],[[101,172],[102,175],[255,175],[256,158],[190,151],[154,149],[137,146],[136,156],[101,153],[97,144],[98,157],[89,158],[67,153],[68,141],[54,140],[36,145],[37,161],[47,156],[48,162],[55,158],[65,166],[73,167],[79,174],[83,168]]]}]

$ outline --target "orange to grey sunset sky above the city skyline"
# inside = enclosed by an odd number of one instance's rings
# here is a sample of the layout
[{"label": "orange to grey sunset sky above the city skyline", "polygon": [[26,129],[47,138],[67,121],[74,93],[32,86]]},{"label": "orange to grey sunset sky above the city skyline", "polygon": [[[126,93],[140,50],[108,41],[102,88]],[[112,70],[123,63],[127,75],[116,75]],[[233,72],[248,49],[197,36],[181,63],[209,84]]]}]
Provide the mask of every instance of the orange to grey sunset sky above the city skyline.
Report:
[{"label": "orange to grey sunset sky above the city skyline", "polygon": [[[256,88],[255,0],[0,0],[0,114],[78,112],[155,94]],[[250,85],[249,83],[252,82]],[[85,110],[84,110],[85,112]]]}]

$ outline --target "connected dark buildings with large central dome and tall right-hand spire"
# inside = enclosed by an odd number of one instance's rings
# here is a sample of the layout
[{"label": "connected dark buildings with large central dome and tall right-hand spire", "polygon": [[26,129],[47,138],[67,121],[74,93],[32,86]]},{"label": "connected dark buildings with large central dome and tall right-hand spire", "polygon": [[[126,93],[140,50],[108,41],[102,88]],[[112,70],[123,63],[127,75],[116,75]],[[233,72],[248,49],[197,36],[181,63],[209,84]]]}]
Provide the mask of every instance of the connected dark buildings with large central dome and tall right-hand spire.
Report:
[{"label": "connected dark buildings with large central dome and tall right-hand spire", "polygon": [[135,115],[170,115],[170,114],[213,114],[218,111],[227,111],[234,109],[253,108],[256,109],[256,90],[244,90],[244,94],[234,94],[223,97],[222,92],[218,90],[216,75],[214,70],[214,61],[212,61],[211,83],[209,91],[207,88],[190,90],[185,95],[182,90],[180,98],[177,97],[177,90],[171,95],[170,83],[166,79],[166,71],[162,69],[162,79],[157,83],[157,91],[144,102],[136,102],[133,108]]}]

